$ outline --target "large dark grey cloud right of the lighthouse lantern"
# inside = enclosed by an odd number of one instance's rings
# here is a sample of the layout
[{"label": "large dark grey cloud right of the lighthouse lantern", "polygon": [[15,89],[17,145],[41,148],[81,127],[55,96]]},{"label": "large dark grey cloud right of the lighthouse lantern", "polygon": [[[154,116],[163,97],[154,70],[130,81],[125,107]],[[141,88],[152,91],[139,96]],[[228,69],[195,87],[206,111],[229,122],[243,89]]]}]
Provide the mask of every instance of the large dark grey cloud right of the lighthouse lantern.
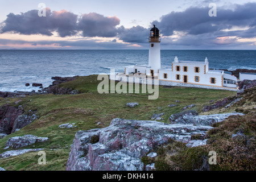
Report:
[{"label": "large dark grey cloud right of the lighthouse lantern", "polygon": [[[174,12],[164,15],[160,21],[154,21],[161,33],[166,36],[174,34],[174,31],[183,31],[186,34],[200,35],[210,32],[222,31],[233,26],[256,26],[256,3],[236,5],[234,10],[222,9],[217,6],[217,16],[208,15],[209,7],[190,7],[183,12]],[[238,33],[238,32],[237,32]],[[237,36],[256,36],[256,32]]]}]

